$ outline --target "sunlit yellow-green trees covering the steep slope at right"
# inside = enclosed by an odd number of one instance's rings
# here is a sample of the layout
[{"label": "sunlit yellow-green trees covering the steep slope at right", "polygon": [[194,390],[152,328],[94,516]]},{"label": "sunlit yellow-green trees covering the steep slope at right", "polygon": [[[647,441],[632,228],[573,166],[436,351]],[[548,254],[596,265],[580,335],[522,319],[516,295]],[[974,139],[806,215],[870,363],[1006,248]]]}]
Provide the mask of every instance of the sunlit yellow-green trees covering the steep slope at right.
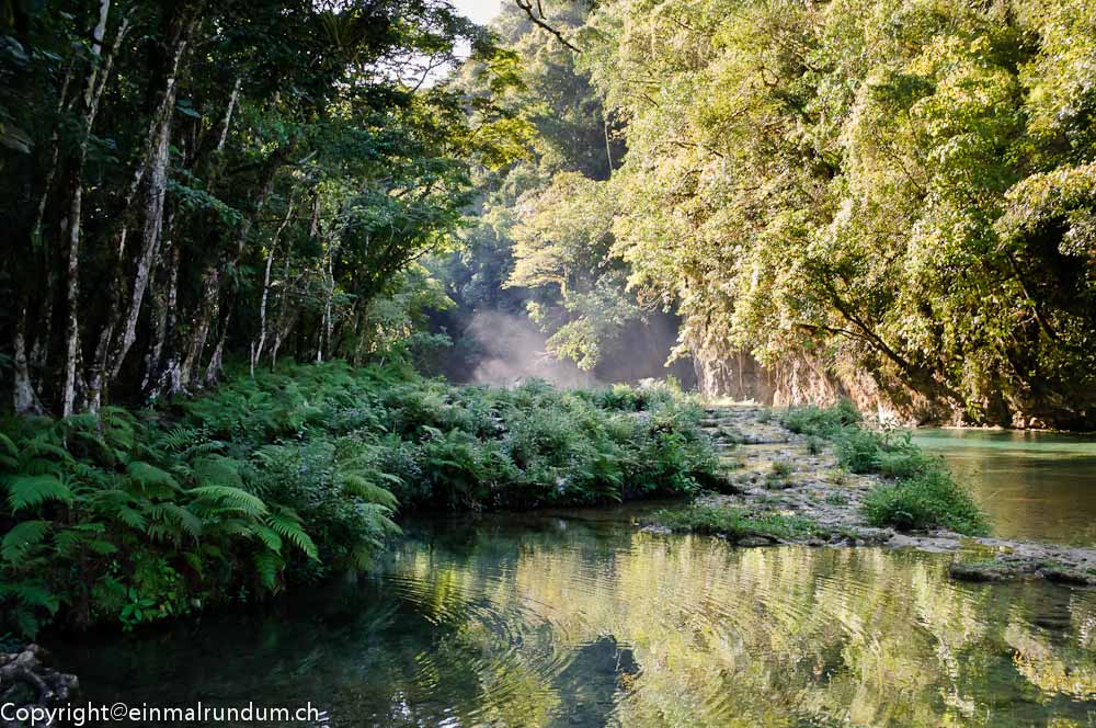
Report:
[{"label": "sunlit yellow-green trees covering the steep slope at right", "polygon": [[535,153],[466,285],[534,291],[552,351],[594,365],[664,308],[716,391],[746,355],[792,398],[1096,424],[1091,2],[546,7],[576,50],[496,22]]}]

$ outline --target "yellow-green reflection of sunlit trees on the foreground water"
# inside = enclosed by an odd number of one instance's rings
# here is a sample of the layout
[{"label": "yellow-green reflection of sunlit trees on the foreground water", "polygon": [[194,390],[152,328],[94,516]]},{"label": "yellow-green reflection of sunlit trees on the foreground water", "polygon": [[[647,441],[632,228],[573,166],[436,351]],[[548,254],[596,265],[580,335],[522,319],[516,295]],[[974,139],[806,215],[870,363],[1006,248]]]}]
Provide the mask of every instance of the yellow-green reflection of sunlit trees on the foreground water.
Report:
[{"label": "yellow-green reflection of sunlit trees on the foreground water", "polygon": [[[414,568],[429,583],[444,562],[461,573],[461,592],[552,632],[556,656],[570,656],[546,678],[553,719],[602,725],[612,704],[610,725],[1009,725],[1092,708],[1053,679],[1055,659],[1092,662],[1091,644],[1073,637],[1070,656],[1029,630],[1039,648],[1025,653],[1044,657],[1012,659],[1005,626],[1048,613],[1043,587],[959,584],[945,561],[894,551],[737,550],[627,532],[602,533],[591,548],[591,535],[573,522],[527,538],[481,535],[482,553],[500,556],[501,542],[505,556],[481,560],[465,542],[458,562],[435,550]],[[1094,601],[1069,606],[1078,627]],[[642,666],[627,690],[614,670],[589,667],[616,640]],[[536,670],[538,658],[507,659]],[[584,669],[602,679],[575,682]]]}]

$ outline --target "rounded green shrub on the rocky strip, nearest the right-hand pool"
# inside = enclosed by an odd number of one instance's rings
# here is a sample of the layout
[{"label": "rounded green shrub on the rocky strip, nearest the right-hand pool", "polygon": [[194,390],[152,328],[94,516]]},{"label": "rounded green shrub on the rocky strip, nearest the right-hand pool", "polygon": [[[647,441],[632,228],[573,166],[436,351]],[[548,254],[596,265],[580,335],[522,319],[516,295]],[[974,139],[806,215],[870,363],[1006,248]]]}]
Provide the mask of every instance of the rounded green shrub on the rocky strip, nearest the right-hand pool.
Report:
[{"label": "rounded green shrub on the rocky strip, nearest the right-hand pool", "polygon": [[865,497],[863,509],[872,525],[899,531],[945,527],[967,535],[989,532],[985,514],[974,499],[940,467],[876,486]]}]

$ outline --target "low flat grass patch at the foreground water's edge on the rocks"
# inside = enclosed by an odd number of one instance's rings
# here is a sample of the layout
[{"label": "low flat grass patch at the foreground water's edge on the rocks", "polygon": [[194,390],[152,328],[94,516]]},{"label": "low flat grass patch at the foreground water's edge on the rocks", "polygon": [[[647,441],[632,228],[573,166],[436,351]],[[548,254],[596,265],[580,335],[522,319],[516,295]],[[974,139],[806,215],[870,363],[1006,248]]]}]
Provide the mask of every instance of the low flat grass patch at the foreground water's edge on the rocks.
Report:
[{"label": "low flat grass patch at the foreground water's edge on the rocks", "polygon": [[672,531],[711,534],[737,543],[747,537],[797,541],[825,535],[810,519],[779,513],[755,513],[730,505],[693,504],[684,509],[658,511],[651,523]]}]

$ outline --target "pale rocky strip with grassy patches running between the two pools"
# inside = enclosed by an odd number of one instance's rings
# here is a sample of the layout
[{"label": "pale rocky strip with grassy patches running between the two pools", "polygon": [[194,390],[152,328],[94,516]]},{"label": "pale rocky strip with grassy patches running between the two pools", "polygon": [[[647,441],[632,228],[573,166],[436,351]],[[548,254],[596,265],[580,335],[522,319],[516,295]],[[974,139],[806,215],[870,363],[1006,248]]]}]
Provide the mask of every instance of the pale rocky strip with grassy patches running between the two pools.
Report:
[{"label": "pale rocky strip with grassy patches running between the two pools", "polygon": [[711,407],[701,424],[735,492],[707,494],[688,509],[662,511],[647,520],[647,528],[712,533],[740,546],[886,546],[949,553],[949,573],[956,579],[1042,578],[1096,585],[1096,548],[943,527],[900,531],[874,525],[866,500],[895,480],[849,471],[838,463],[832,437],[794,432],[795,423],[770,408]]}]

